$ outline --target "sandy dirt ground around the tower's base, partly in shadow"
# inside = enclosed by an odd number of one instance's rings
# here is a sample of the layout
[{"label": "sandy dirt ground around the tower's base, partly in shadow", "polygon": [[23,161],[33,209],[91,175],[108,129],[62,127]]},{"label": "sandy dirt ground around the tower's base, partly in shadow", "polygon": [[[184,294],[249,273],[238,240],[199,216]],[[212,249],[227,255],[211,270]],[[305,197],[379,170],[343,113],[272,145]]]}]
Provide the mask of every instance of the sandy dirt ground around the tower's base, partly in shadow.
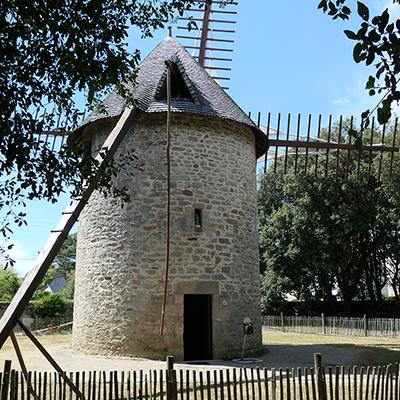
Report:
[{"label": "sandy dirt ground around the tower's base, partly in shadow", "polygon": [[[66,371],[90,370],[151,370],[166,368],[164,361],[128,357],[99,357],[76,354],[71,348],[71,335],[42,336],[39,340]],[[33,347],[26,337],[18,337],[28,369],[52,371],[51,365]],[[260,368],[285,368],[312,366],[313,354],[322,353],[323,364],[383,365],[400,361],[400,339],[354,338],[326,335],[303,335],[265,331],[261,362],[246,364]],[[0,350],[0,363],[9,359],[18,369],[13,347],[8,341]],[[243,364],[232,360],[213,360],[207,363],[177,363],[177,368],[238,368]]]}]

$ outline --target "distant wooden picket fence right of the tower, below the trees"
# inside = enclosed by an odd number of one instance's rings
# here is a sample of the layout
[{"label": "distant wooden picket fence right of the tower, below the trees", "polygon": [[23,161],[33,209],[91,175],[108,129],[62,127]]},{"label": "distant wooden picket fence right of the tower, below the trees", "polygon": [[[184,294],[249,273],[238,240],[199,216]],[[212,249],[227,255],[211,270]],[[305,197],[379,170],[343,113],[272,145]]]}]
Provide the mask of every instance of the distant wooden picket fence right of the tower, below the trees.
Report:
[{"label": "distant wooden picket fence right of the tower, below the trees", "polygon": [[400,336],[400,319],[398,318],[348,318],[310,316],[263,316],[263,328],[282,332],[313,333],[340,336]]}]

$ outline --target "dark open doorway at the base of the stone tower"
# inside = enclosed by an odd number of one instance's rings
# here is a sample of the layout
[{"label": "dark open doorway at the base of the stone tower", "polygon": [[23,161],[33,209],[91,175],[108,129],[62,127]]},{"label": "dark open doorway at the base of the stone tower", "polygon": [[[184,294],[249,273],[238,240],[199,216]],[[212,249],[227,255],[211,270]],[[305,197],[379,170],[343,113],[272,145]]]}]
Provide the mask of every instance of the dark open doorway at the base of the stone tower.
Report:
[{"label": "dark open doorway at the base of the stone tower", "polygon": [[186,361],[212,358],[212,298],[185,294],[183,346]]}]

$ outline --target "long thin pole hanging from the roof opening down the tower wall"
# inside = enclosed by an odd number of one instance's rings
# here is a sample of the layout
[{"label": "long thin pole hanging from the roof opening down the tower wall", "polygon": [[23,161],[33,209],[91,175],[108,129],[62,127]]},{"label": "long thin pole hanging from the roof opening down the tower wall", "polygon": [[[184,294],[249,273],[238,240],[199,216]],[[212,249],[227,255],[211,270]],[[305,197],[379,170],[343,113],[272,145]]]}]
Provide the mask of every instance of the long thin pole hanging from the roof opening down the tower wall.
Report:
[{"label": "long thin pole hanging from the roof opening down the tower wall", "polygon": [[165,248],[165,276],[164,276],[164,295],[161,306],[160,335],[164,334],[165,307],[168,295],[168,275],[170,259],[170,231],[171,231],[171,64],[167,65],[167,226],[166,226],[166,248]]}]

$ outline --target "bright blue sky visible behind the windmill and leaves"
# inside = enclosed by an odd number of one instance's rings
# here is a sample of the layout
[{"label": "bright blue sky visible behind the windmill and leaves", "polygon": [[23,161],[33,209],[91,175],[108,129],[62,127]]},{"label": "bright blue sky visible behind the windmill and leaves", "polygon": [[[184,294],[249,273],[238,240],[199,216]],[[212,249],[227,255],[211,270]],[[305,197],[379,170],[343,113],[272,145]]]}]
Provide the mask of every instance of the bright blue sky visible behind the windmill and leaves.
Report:
[{"label": "bright blue sky visible behind the windmill and leaves", "polygon": [[[359,114],[377,99],[364,90],[369,71],[352,60],[352,42],[344,29],[358,26],[332,21],[317,10],[318,0],[239,0],[229,94],[245,110],[276,114]],[[354,9],[355,1],[349,1]],[[393,7],[391,0],[366,1],[371,12]],[[176,33],[176,29],[174,30]],[[145,56],[166,31],[140,40],[132,32],[129,42]],[[28,206],[28,226],[16,228],[11,256],[24,275],[45,244],[68,204],[64,195],[57,204],[35,202]]]}]

